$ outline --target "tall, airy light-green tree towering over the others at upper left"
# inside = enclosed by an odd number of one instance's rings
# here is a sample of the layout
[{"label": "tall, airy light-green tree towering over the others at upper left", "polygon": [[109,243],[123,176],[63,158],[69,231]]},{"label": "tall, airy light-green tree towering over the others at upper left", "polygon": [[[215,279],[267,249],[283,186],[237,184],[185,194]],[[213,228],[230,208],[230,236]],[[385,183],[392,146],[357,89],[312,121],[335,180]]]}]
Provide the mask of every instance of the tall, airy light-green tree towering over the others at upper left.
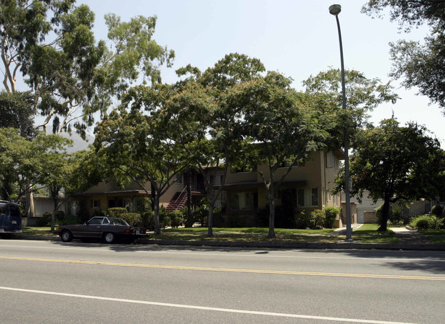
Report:
[{"label": "tall, airy light-green tree towering over the others at upper left", "polygon": [[[15,92],[17,77],[32,89],[34,107],[62,129],[84,135],[93,114],[104,113],[112,97],[143,77],[159,80],[159,64],[171,64],[173,51],[152,39],[156,16],[120,21],[106,16],[110,46],[95,42],[94,13],[75,0],[0,3],[3,86]],[[48,18],[47,18],[48,17]]]}]

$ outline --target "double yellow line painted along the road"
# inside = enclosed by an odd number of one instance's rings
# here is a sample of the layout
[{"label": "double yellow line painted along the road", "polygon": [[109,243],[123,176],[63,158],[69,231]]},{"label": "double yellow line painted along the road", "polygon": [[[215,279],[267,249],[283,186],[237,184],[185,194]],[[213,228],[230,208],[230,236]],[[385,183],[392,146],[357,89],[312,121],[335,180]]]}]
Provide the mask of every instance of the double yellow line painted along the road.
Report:
[{"label": "double yellow line painted along the road", "polygon": [[436,280],[445,281],[445,277],[425,277],[418,275],[373,275],[365,273],[324,273],[324,272],[304,272],[304,271],[279,271],[279,270],[256,270],[256,269],[224,269],[224,268],[205,268],[201,266],[163,266],[159,264],[136,264],[136,263],[114,263],[114,262],[97,262],[84,260],[58,260],[58,259],[41,259],[41,258],[19,258],[0,256],[0,260],[21,260],[36,262],[56,262],[69,264],[95,264],[101,266],[131,266],[138,268],[152,269],[178,269],[193,271],[219,271],[219,272],[236,272],[236,273],[268,273],[274,275],[318,275],[328,277],[357,277],[357,278],[378,278],[378,279],[409,279],[409,280]]}]

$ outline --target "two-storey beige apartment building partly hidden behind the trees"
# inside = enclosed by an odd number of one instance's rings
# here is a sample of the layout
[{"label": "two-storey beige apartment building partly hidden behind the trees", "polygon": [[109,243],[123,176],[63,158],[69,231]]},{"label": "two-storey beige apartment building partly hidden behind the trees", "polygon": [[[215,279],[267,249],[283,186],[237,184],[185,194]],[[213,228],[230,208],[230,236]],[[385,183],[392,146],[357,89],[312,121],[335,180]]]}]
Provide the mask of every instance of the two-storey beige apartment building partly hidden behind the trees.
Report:
[{"label": "two-storey beige apartment building partly hidden behind the trees", "polygon": [[[344,159],[342,151],[328,151],[312,153],[310,160],[304,164],[294,166],[285,177],[284,182],[276,190],[276,205],[281,205],[282,189],[290,190],[293,209],[298,212],[302,210],[323,209],[326,206],[341,206],[339,194],[333,195],[334,180],[339,172],[339,160]],[[267,206],[267,197],[263,179],[257,171],[262,171],[267,177],[266,166],[258,165],[256,171],[246,172],[243,170],[231,170],[226,175],[226,183],[221,190],[217,205],[224,206],[223,211],[215,217],[215,226],[224,225],[228,217],[239,217],[245,226],[255,225],[256,213]],[[276,171],[275,179],[287,170],[287,167]],[[216,176],[215,186],[221,186],[223,171],[208,169]],[[187,184],[191,187],[191,203],[196,205],[206,197],[204,177],[200,173],[192,172],[178,176],[169,190],[160,197],[160,204],[167,210],[180,209],[186,203]],[[150,188],[150,184],[146,184]],[[149,191],[150,192],[150,191]],[[288,191],[289,192],[289,191]],[[115,182],[99,184],[76,200],[84,199],[88,212],[93,214],[95,210],[106,210],[113,207],[125,207],[128,210],[136,210],[143,199],[148,198],[145,190],[136,183],[121,189]],[[146,202],[145,202],[146,203]],[[218,224],[218,221],[222,224]]]}]

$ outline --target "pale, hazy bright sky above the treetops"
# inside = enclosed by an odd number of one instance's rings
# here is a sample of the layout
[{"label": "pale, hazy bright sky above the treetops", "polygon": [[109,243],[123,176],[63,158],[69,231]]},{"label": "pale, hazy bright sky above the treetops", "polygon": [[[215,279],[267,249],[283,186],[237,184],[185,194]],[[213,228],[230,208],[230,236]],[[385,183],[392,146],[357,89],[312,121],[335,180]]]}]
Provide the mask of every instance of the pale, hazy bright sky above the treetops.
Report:
[{"label": "pale, hazy bright sky above the treetops", "polygon": [[[392,82],[401,97],[396,104],[382,104],[371,112],[375,125],[392,115],[401,124],[425,125],[445,147],[445,117],[418,90],[405,90],[401,80],[388,76],[392,62],[389,42],[421,40],[427,27],[400,32],[389,16],[383,19],[361,14],[365,0],[344,0],[339,21],[346,69],[361,71],[370,79]],[[163,68],[163,82],[178,81],[175,70],[191,64],[204,71],[228,53],[242,53],[263,62],[267,71],[291,77],[293,88],[328,68],[340,67],[339,38],[331,0],[77,0],[96,15],[95,36],[106,39],[104,14],[115,13],[122,21],[143,15],[158,17],[154,39],[176,53],[173,68]]]}]

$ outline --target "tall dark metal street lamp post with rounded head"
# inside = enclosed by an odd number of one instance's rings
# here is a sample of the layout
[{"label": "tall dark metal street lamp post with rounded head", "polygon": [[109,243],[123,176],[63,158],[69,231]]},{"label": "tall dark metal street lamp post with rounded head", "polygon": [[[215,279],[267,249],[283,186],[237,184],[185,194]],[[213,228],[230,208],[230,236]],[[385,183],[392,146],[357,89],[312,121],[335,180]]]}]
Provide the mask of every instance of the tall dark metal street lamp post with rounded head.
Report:
[{"label": "tall dark metal street lamp post with rounded head", "polygon": [[[341,12],[341,5],[334,4],[329,7],[329,13],[335,16],[337,20],[337,28],[339,31],[340,42],[340,61],[341,61],[341,94],[343,98],[342,108],[346,110],[346,87],[345,87],[345,66],[343,60],[343,45],[341,43],[341,31],[339,13]],[[345,199],[346,199],[346,241],[352,242],[352,228],[351,228],[351,205],[350,205],[350,188],[349,188],[349,136],[348,129],[344,128],[344,149],[345,149]]]}]

